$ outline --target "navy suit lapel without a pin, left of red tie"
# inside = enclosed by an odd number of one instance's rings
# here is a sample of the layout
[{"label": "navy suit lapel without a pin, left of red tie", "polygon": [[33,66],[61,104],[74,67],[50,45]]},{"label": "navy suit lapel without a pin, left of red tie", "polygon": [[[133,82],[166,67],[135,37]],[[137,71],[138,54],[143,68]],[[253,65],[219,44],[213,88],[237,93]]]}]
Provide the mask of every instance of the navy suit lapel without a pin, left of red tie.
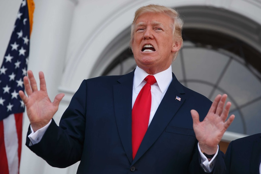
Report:
[{"label": "navy suit lapel without a pin, left of red tie", "polygon": [[123,148],[132,162],[131,106],[134,71],[122,76],[113,86],[114,112]]}]

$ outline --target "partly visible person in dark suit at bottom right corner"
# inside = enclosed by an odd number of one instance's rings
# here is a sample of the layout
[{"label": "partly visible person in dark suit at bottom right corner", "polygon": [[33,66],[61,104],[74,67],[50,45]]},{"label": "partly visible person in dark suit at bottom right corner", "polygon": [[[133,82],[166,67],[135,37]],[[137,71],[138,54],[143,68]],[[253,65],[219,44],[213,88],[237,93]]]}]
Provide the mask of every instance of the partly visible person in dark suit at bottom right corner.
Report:
[{"label": "partly visible person in dark suit at bottom right corner", "polygon": [[226,174],[261,174],[261,133],[231,141],[225,163]]}]

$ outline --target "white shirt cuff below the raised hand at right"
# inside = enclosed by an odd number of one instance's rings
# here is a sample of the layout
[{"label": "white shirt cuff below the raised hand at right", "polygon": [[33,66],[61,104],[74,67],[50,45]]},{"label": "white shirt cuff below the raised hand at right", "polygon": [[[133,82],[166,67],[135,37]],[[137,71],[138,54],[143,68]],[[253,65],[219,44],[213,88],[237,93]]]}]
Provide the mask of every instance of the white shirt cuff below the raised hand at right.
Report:
[{"label": "white shirt cuff below the raised hand at right", "polygon": [[215,155],[213,156],[213,158],[210,161],[201,152],[199,143],[197,144],[197,146],[198,146],[198,150],[199,150],[200,157],[201,157],[201,164],[200,164],[201,167],[204,169],[205,172],[208,172],[208,173],[212,172],[214,167],[216,166],[216,156],[218,154],[219,146],[217,146],[217,151],[216,151]]}]

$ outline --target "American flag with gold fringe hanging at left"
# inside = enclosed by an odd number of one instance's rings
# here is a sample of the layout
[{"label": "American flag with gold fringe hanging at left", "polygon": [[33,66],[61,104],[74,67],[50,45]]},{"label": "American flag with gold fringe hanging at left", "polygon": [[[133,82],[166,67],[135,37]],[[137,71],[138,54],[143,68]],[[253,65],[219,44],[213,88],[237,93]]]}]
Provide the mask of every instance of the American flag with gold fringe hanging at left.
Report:
[{"label": "American flag with gold fringe hanging at left", "polygon": [[[28,2],[26,0],[21,2],[0,69],[1,174],[19,173],[25,105],[19,97],[18,91],[24,91],[23,77],[27,74],[30,22],[32,23],[34,9],[34,2],[32,0],[28,0]],[[31,8],[29,12],[28,8]]]}]

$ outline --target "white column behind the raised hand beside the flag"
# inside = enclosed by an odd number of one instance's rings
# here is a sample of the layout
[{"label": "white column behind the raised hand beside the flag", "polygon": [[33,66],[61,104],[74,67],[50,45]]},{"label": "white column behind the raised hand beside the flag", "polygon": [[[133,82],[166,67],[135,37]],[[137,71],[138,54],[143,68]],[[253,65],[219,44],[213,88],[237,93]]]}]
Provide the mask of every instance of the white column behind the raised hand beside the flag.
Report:
[{"label": "white column behind the raised hand beside the flag", "polygon": [[[34,23],[30,39],[28,70],[32,70],[38,83],[38,72],[43,71],[51,101],[58,94],[64,69],[64,60],[71,30],[75,2],[70,0],[35,0]],[[63,113],[63,111],[59,111]],[[58,115],[58,114],[57,114]],[[60,117],[56,119],[59,123]],[[68,169],[49,166],[25,146],[29,120],[24,114],[20,173],[65,173]]]}]

